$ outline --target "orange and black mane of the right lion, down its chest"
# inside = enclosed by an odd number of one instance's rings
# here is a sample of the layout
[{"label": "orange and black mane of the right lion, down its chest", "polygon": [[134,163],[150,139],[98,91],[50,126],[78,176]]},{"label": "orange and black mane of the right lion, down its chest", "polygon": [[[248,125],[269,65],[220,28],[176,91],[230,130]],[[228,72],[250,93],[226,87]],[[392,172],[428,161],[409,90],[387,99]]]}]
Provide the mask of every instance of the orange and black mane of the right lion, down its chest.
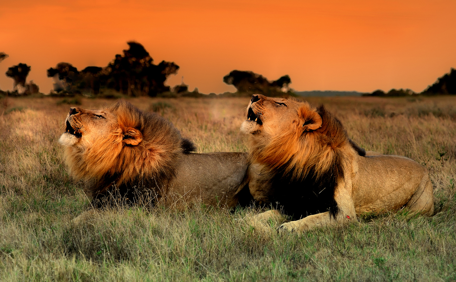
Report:
[{"label": "orange and black mane of the right lion, down its chest", "polygon": [[297,115],[302,118],[295,123],[302,129],[288,127],[270,139],[252,135],[251,162],[266,166],[262,173],[270,175],[274,199],[286,214],[299,219],[329,210],[334,216],[337,203],[333,195],[344,175],[343,164],[351,153],[347,151],[361,156],[366,152],[348,138],[342,123],[324,106],[292,101],[300,103]]}]

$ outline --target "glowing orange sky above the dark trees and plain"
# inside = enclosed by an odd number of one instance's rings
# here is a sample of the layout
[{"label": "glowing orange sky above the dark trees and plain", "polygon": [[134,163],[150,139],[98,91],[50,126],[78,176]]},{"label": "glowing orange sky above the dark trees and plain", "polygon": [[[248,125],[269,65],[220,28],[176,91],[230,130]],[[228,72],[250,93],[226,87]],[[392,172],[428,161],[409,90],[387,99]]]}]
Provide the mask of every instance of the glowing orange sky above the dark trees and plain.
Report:
[{"label": "glowing orange sky above the dark trees and plain", "polygon": [[1,0],[0,88],[19,62],[31,66],[41,92],[46,69],[70,62],[104,67],[143,44],[154,59],[181,69],[168,85],[201,92],[234,91],[223,76],[251,70],[292,88],[420,92],[456,67],[456,1],[371,0]]}]

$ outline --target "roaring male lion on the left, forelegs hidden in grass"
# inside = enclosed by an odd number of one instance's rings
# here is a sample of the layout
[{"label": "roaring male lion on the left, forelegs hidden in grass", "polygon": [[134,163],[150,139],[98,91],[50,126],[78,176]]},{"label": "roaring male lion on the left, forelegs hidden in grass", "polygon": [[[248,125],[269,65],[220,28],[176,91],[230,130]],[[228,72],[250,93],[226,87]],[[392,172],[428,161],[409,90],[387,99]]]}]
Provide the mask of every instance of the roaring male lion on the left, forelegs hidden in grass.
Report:
[{"label": "roaring male lion on the left, forelegs hidden in grass", "polygon": [[244,187],[246,153],[192,154],[170,122],[119,100],[104,110],[70,108],[65,162],[83,179],[93,205],[201,201],[233,207]]}]

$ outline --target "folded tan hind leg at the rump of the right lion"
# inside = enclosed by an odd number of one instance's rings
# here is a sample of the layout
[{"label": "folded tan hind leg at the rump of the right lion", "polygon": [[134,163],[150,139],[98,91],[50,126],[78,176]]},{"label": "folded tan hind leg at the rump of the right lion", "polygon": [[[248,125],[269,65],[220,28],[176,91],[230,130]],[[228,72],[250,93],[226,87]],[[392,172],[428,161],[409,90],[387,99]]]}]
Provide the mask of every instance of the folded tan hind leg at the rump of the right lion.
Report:
[{"label": "folded tan hind leg at the rump of the right lion", "polygon": [[432,215],[434,213],[434,189],[429,176],[423,177],[420,186],[405,205],[412,213]]}]

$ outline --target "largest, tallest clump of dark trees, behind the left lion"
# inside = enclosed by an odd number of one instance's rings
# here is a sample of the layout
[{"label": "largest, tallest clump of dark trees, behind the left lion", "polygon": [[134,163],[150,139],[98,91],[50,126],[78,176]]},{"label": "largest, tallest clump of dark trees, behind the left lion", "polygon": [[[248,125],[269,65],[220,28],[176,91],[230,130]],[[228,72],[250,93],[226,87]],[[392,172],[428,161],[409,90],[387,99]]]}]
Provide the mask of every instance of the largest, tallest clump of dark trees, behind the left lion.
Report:
[{"label": "largest, tallest clump of dark trees, behind the left lion", "polygon": [[169,92],[166,78],[176,74],[179,66],[174,62],[154,60],[140,43],[128,42],[130,48],[123,55],[116,54],[106,67],[86,67],[78,71],[67,62],[60,62],[47,70],[47,76],[54,80],[55,92],[93,93],[100,88],[114,89],[129,96],[156,96]]}]

